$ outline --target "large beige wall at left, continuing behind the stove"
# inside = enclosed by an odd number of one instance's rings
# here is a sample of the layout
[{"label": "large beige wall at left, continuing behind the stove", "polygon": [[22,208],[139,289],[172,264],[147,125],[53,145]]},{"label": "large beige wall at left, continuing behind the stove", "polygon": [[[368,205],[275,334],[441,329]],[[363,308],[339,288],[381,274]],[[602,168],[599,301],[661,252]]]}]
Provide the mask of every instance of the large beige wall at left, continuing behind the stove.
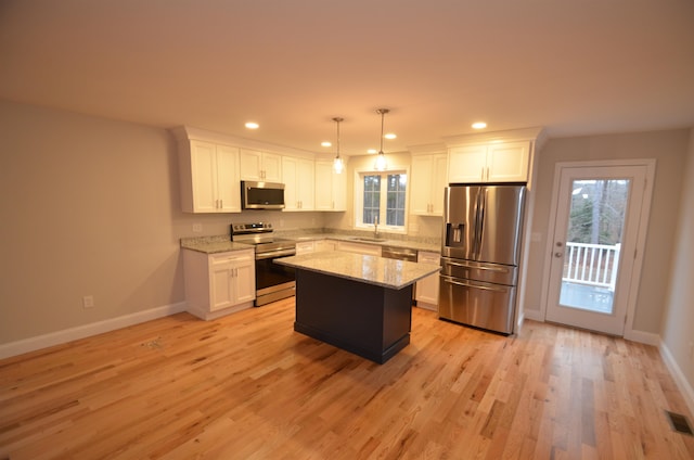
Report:
[{"label": "large beige wall at left, continuing behind the stove", "polygon": [[321,213],[181,213],[164,129],[0,101],[0,344],[183,302],[193,223],[322,227]]}]

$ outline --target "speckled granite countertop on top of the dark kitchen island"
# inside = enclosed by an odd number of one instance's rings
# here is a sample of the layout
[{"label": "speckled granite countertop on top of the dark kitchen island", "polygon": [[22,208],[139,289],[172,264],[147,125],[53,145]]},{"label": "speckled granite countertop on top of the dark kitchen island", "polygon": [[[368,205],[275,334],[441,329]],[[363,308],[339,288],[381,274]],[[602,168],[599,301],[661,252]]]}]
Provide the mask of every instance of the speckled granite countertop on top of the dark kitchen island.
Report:
[{"label": "speckled granite countertop on top of the dark kitchen island", "polygon": [[274,263],[390,289],[404,288],[439,271],[433,265],[340,251],[282,257]]}]

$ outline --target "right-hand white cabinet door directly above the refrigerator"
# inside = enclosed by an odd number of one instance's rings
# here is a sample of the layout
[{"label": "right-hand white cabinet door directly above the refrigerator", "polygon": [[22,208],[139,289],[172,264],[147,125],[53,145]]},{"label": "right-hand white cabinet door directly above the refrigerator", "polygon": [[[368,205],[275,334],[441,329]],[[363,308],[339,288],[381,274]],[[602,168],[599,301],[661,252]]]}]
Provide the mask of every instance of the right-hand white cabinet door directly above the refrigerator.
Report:
[{"label": "right-hand white cabinet door directly above the refrigerator", "polygon": [[491,144],[487,151],[489,182],[526,182],[528,180],[529,142]]}]

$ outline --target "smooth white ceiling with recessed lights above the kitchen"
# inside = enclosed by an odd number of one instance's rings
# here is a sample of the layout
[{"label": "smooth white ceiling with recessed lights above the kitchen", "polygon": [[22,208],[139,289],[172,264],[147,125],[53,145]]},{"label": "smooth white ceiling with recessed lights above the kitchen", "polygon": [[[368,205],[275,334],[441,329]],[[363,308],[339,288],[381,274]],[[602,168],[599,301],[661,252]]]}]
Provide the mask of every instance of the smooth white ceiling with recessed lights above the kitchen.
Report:
[{"label": "smooth white ceiling with recessed lights above the kitchen", "polygon": [[[694,126],[692,0],[1,0],[0,98],[326,152]],[[248,131],[244,122],[260,124]]]}]

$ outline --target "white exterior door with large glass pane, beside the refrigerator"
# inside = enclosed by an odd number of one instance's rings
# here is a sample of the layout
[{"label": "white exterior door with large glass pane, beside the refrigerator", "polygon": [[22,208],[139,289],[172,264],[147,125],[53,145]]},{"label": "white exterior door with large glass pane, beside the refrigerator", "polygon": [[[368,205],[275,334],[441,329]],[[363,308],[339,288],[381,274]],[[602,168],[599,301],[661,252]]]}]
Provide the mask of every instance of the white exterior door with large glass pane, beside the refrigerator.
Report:
[{"label": "white exterior door with large glass pane, beside the refrigerator", "polygon": [[545,319],[621,336],[635,303],[647,167],[557,169]]}]

